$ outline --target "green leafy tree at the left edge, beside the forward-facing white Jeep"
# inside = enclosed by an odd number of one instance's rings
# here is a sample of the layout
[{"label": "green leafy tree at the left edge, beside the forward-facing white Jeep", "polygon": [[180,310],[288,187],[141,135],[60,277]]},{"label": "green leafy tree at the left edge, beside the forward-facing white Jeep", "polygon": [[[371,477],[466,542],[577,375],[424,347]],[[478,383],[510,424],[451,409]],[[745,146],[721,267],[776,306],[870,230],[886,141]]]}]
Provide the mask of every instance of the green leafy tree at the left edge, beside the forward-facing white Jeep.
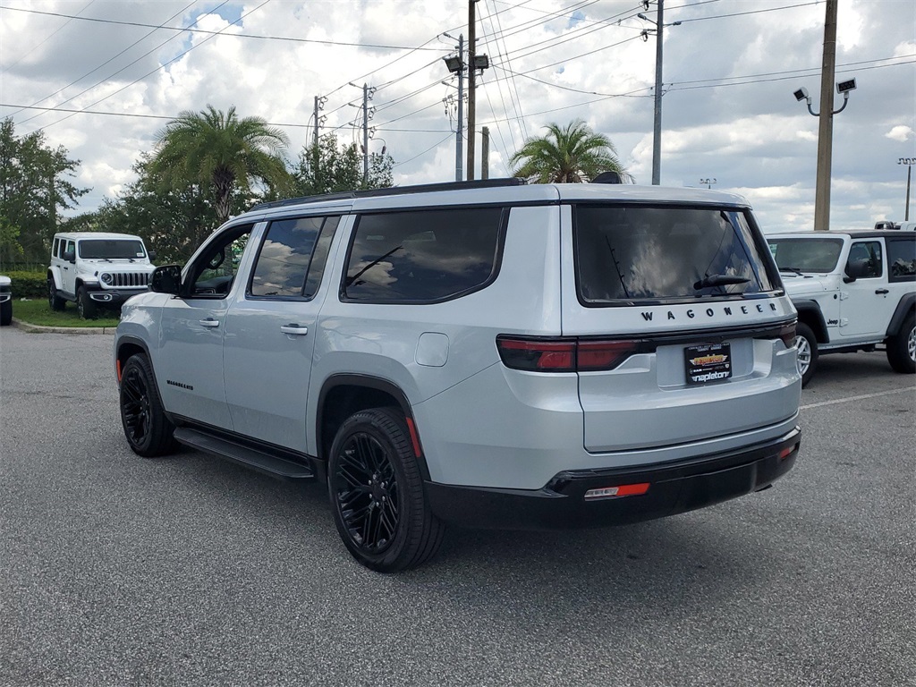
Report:
[{"label": "green leafy tree at the left edge, beside the forward-facing white Jeep", "polygon": [[0,122],[0,261],[48,260],[60,211],[89,192],[69,180],[79,165],[64,147],[49,147],[44,132],[18,137],[11,117]]}]

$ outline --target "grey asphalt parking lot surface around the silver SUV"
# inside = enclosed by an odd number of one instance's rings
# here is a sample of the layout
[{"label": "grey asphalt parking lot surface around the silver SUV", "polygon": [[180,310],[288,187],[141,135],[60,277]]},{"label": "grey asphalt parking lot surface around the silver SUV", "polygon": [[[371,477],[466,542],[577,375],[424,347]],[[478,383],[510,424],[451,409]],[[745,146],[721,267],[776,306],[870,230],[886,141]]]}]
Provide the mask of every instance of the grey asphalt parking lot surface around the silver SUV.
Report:
[{"label": "grey asphalt parking lot surface around the silver SUV", "polygon": [[0,332],[0,685],[916,685],[916,378],[826,356],[774,488],[355,563],[317,485],[124,441],[110,335]]}]

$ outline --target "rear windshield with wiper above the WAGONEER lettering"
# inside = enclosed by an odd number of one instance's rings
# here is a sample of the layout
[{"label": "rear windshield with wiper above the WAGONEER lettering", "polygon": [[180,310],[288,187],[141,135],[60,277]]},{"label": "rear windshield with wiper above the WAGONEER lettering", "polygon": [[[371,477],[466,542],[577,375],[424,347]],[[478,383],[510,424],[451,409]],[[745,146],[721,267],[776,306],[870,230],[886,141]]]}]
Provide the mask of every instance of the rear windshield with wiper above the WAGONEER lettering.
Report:
[{"label": "rear windshield with wiper above the WAGONEER lettering", "polygon": [[574,213],[576,277],[585,304],[774,289],[744,213],[608,205],[578,206]]}]

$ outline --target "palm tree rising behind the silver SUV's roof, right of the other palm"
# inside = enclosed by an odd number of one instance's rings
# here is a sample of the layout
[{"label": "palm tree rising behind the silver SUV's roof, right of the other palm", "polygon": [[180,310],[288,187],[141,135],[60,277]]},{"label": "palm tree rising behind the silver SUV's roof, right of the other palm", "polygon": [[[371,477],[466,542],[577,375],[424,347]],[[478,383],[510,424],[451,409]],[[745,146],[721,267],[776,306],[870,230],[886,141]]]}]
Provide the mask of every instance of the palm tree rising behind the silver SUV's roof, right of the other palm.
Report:
[{"label": "palm tree rising behind the silver SUV's roof, right of the other palm", "polygon": [[615,171],[624,181],[632,175],[616,156],[616,148],[604,134],[596,134],[583,120],[576,119],[562,127],[546,126],[546,136],[525,141],[509,164],[521,165],[512,176],[532,183],[583,183],[605,171]]}]

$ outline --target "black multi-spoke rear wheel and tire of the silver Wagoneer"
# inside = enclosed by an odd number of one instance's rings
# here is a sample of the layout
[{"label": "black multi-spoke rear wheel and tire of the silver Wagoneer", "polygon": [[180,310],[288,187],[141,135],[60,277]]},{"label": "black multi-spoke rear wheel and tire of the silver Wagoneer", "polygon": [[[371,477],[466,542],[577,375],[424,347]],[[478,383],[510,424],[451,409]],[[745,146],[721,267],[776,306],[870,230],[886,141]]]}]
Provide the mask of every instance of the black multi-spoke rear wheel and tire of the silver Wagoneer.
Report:
[{"label": "black multi-spoke rear wheel and tire of the silver Wagoneer", "polygon": [[404,416],[361,410],[334,437],[328,464],[334,524],[353,557],[378,573],[428,561],[445,527],[426,503]]}]

